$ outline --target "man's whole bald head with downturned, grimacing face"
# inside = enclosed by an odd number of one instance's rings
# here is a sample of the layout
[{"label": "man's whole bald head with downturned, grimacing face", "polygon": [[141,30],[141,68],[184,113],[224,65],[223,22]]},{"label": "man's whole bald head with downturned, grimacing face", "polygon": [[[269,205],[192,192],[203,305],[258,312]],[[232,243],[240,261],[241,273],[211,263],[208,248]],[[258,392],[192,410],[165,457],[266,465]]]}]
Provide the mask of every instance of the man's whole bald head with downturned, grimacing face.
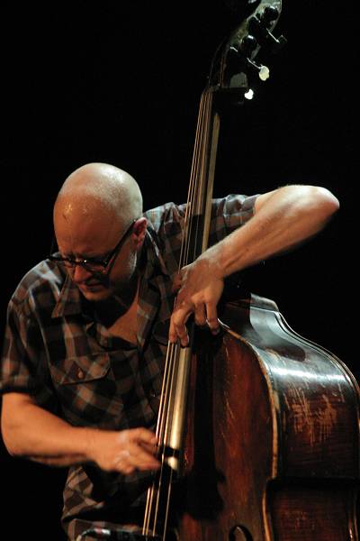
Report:
[{"label": "man's whole bald head with downturned, grimacing face", "polygon": [[[141,215],[139,186],[123,170],[88,163],[66,179],[54,206],[55,234],[61,255],[78,261],[68,273],[85,298],[126,297],[147,229]],[[106,272],[99,278],[81,260],[103,261]]]}]

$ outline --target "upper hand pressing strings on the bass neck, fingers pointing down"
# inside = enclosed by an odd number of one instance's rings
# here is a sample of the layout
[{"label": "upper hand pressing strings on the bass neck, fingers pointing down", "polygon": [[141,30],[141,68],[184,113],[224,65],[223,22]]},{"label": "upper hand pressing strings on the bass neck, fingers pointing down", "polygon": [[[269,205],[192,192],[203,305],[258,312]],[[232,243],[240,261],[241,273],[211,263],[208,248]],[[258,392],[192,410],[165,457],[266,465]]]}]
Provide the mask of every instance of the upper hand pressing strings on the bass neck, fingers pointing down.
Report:
[{"label": "upper hand pressing strings on the bass neck, fingers pointing down", "polygon": [[186,265],[176,276],[173,288],[178,289],[175,307],[170,320],[169,340],[180,340],[182,346],[189,344],[186,321],[191,314],[199,326],[208,325],[211,333],[219,332],[217,304],[224,281],[219,266],[203,253],[196,261]]}]

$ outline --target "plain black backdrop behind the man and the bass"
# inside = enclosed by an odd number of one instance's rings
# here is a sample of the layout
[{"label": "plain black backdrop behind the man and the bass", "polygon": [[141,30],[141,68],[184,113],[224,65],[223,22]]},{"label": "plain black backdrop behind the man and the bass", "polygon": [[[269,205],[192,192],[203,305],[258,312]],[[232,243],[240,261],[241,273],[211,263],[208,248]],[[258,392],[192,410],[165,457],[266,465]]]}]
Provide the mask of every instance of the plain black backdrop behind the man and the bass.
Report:
[{"label": "plain black backdrop behind the man and the bass", "polygon": [[[52,204],[72,170],[109,162],[138,179],[146,208],[184,202],[199,99],[216,47],[239,23],[234,5],[6,5],[2,328],[18,281],[49,250]],[[222,120],[214,193],[302,183],[339,198],[341,209],[323,232],[247,271],[245,283],[357,374],[350,315],[357,292],[355,30],[351,3],[285,3],[275,34],[288,44],[271,59],[271,77],[245,109]],[[59,538],[65,472],[4,449],[1,460],[2,524],[11,538]]]}]

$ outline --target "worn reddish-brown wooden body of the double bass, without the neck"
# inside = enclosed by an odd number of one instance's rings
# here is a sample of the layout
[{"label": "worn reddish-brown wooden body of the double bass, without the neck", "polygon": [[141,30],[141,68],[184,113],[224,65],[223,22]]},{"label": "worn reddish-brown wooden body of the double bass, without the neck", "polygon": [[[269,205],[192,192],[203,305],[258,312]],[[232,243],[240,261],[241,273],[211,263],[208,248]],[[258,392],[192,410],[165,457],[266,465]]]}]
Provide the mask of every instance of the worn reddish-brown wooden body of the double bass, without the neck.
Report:
[{"label": "worn reddish-brown wooden body of the double bass, without the neck", "polygon": [[357,540],[355,378],[268,299],[221,321],[196,354],[180,541]]}]

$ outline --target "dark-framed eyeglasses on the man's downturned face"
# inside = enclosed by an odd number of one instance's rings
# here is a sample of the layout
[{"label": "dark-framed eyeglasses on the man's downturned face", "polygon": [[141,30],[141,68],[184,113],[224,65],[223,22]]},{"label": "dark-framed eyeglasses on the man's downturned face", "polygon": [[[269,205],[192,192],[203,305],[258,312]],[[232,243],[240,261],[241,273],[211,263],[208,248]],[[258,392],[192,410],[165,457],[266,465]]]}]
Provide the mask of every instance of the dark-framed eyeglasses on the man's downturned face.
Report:
[{"label": "dark-framed eyeglasses on the man's downturned face", "polygon": [[75,259],[73,257],[63,257],[58,252],[54,253],[54,248],[57,245],[57,241],[54,237],[48,256],[49,260],[56,261],[59,265],[66,267],[67,269],[75,269],[76,265],[78,265],[80,267],[83,267],[86,271],[105,274],[106,267],[109,265],[110,261],[112,261],[112,258],[114,258],[120,252],[122,243],[125,241],[128,234],[130,234],[130,232],[132,231],[132,227],[135,222],[137,222],[137,220],[138,218],[132,220],[125,233],[122,234],[120,241],[116,244],[113,250],[109,252],[103,259],[97,259],[93,257],[87,257],[85,259]]}]

